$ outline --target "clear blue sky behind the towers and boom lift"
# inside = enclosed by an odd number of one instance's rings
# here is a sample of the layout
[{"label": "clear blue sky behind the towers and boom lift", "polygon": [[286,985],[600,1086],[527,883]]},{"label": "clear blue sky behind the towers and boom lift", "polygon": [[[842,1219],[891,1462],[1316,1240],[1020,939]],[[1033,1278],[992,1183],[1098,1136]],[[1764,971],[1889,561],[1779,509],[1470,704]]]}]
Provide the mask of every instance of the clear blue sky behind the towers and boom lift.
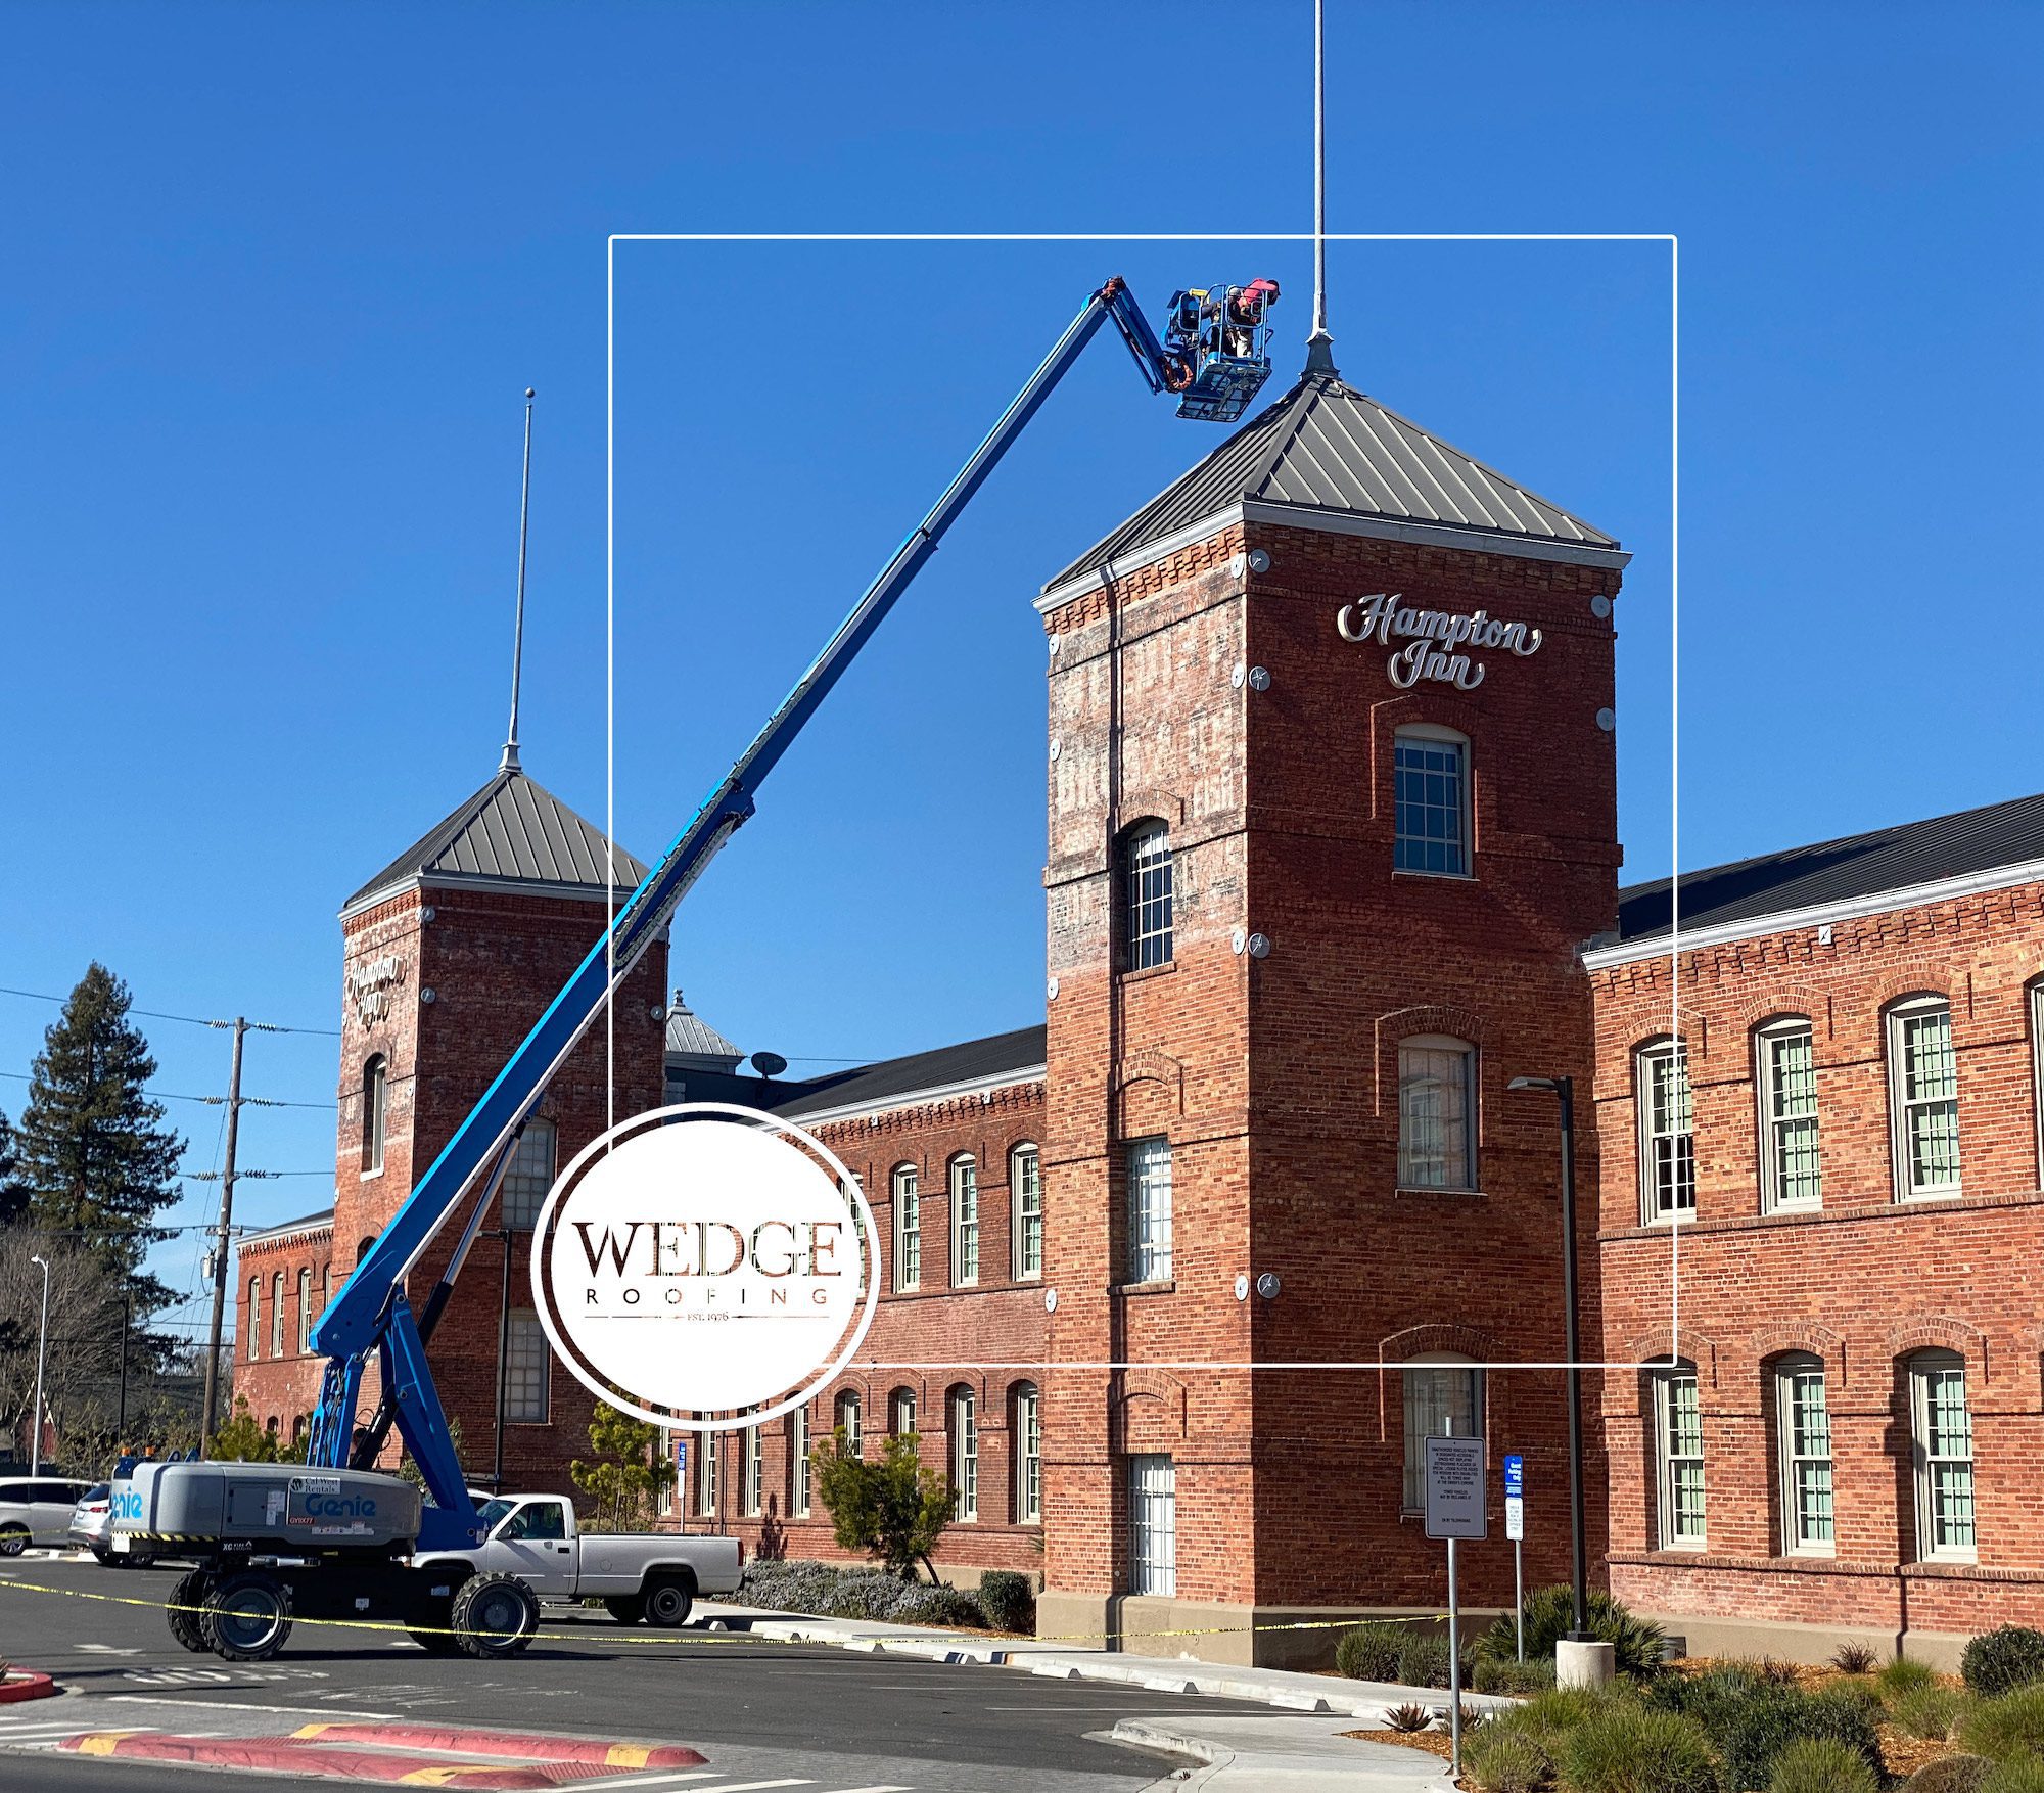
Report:
[{"label": "clear blue sky behind the towers and boom lift", "polygon": [[[1682,237],[1682,859],[2038,789],[2032,6],[1333,4],[1337,231]],[[0,985],[333,1026],[339,902],[503,732],[603,816],[611,231],[1310,225],[1310,6],[14,4],[0,59]],[[1637,550],[1629,873],[1668,867],[1660,245],[1337,245],[1343,372]],[[1302,245],[677,245],[617,262],[617,826],[658,850],[1085,292]],[[677,928],[744,1049],[1042,990],[1028,599],[1218,440],[1104,339]],[[53,1010],[0,998],[0,1071]],[[168,1092],[225,1039],[149,1022]],[[331,1041],[253,1094],[327,1102]],[[22,1084],[0,1077],[0,1108]],[[219,1110],[172,1104],[217,1157]],[[251,1112],[243,1163],[331,1167]],[[327,1200],[245,1186],[243,1216]],[[198,1219],[206,1196],[180,1219]],[[196,1251],[161,1255],[180,1286]]]}]

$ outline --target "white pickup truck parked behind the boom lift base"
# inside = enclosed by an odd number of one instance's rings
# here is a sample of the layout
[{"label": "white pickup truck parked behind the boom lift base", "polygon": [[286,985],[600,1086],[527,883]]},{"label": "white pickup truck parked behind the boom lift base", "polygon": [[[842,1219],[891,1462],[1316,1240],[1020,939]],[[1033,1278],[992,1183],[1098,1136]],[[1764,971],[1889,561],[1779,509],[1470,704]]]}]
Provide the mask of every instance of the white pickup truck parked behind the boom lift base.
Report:
[{"label": "white pickup truck parked behind the boom lift base", "polygon": [[476,1517],[489,1527],[480,1546],[435,1550],[419,1564],[466,1562],[478,1574],[515,1574],[542,1601],[595,1597],[619,1625],[685,1625],[697,1595],[738,1587],[736,1537],[583,1531],[560,1495],[499,1495]]}]

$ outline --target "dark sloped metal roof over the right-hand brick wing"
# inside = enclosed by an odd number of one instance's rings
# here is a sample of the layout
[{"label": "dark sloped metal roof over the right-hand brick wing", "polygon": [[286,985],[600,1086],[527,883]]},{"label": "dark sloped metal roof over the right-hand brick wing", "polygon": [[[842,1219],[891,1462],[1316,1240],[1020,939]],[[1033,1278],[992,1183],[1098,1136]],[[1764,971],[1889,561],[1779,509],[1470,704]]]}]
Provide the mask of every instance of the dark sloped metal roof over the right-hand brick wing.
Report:
[{"label": "dark sloped metal roof over the right-hand brick wing", "polygon": [[[1684,873],[1682,932],[1864,904],[1889,891],[2038,863],[2044,863],[2044,793]],[[1672,906],[1666,877],[1621,889],[1617,945],[1666,938]]]}]

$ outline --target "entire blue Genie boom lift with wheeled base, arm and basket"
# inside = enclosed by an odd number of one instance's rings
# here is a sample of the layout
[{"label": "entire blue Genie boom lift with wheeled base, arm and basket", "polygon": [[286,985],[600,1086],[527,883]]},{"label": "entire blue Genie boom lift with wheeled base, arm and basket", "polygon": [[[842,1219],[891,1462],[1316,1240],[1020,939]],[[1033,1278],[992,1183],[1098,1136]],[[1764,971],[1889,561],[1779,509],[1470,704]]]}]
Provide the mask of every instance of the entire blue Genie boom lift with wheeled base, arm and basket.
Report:
[{"label": "entire blue Genie boom lift with wheeled base, arm and basket", "polygon": [[[474,1550],[484,1531],[425,1362],[425,1343],[511,1165],[525,1116],[617,983],[660,938],[703,867],[752,816],[766,775],[1100,327],[1112,323],[1120,331],[1143,380],[1153,393],[1173,395],[1179,417],[1233,423],[1269,378],[1265,319],[1275,303],[1275,280],[1188,288],[1171,294],[1159,339],[1124,280],[1108,280],[1085,301],[824,652],[617,910],[319,1317],[313,1345],[327,1368],[305,1466],[139,1464],[117,1488],[117,1550],[196,1562],[170,1603],[180,1644],[260,1660],[282,1648],[296,1615],[394,1621],[429,1648],[460,1648],[470,1656],[525,1648],[540,1621],[527,1582],[429,1560],[435,1552]],[[478,1180],[448,1270],[415,1315],[405,1276]],[[382,1398],[370,1423],[358,1427],[370,1353]],[[376,1470],[392,1425],[425,1482],[423,1501],[409,1482]]]}]

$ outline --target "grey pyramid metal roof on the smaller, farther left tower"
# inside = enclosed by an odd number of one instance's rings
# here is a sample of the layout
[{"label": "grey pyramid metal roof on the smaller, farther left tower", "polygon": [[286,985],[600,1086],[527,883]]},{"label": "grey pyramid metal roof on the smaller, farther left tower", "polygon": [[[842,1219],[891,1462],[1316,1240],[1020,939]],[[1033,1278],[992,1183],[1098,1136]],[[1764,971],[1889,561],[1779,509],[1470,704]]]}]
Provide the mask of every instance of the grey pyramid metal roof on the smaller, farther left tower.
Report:
[{"label": "grey pyramid metal roof on the smaller, farther left tower", "polygon": [[[421,877],[601,891],[603,865],[601,828],[517,767],[499,767],[480,791],[362,885],[341,914]],[[646,867],[619,846],[613,875],[619,889],[634,889]]]}]

